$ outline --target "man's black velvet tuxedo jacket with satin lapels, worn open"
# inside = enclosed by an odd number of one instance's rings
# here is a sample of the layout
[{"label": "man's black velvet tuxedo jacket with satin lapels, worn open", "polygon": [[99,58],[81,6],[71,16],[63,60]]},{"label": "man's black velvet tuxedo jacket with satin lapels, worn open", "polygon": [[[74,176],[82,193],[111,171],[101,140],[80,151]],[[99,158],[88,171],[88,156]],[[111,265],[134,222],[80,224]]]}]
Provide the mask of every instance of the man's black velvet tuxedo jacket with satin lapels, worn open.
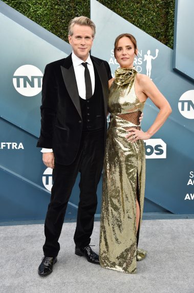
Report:
[{"label": "man's black velvet tuxedo jacket with satin lapels, worn open", "polygon": [[[106,133],[108,81],[112,78],[111,69],[106,61],[92,56],[91,60],[102,84]],[[40,109],[41,130],[37,147],[53,149],[57,163],[71,164],[79,150],[82,133],[81,107],[71,54],[46,66],[42,80]]]}]

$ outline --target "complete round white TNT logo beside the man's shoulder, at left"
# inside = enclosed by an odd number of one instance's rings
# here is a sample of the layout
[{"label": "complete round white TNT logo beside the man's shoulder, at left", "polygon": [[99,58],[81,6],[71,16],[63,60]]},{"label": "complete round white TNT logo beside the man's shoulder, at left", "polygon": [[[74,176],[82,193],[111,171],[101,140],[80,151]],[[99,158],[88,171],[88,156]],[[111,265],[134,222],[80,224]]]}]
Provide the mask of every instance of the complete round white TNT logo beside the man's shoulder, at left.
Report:
[{"label": "complete round white TNT logo beside the man's shoulder, at left", "polygon": [[13,75],[13,85],[19,94],[33,97],[42,89],[42,72],[36,66],[23,65]]}]

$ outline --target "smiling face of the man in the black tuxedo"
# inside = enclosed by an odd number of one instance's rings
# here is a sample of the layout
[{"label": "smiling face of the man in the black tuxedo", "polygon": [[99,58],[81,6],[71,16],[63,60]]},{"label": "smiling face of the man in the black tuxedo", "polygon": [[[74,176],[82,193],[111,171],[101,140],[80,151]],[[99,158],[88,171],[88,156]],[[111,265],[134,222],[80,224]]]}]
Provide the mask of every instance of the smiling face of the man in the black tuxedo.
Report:
[{"label": "smiling face of the man in the black tuxedo", "polygon": [[85,25],[75,24],[73,35],[69,35],[69,43],[77,57],[85,61],[93,44],[92,28]]}]

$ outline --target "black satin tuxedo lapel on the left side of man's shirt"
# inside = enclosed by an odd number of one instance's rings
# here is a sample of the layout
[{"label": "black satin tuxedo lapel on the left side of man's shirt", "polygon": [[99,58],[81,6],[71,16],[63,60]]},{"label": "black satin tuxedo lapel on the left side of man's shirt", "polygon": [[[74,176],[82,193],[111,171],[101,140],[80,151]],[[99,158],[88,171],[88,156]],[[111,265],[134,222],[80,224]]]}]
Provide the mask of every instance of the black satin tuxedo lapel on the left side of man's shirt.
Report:
[{"label": "black satin tuxedo lapel on the left side of man's shirt", "polygon": [[[75,71],[73,67],[72,57],[71,55],[68,56],[61,67],[62,77],[64,80],[64,84],[66,85],[67,91],[74,103],[79,116],[81,117],[81,107],[79,101],[79,92],[77,88],[77,82],[75,77]],[[82,118],[82,117],[81,117]]]}]

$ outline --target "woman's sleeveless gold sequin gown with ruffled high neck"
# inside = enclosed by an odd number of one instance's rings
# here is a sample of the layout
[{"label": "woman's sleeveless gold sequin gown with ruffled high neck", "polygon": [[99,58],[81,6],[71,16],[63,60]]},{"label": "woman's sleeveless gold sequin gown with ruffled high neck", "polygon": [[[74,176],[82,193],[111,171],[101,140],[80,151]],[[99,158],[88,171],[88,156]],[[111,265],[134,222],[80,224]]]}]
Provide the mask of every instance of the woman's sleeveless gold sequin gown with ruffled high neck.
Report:
[{"label": "woman's sleeveless gold sequin gown with ruffled high neck", "polygon": [[[110,88],[100,224],[100,265],[126,273],[136,273],[137,257],[143,259],[146,254],[139,250],[137,255],[145,189],[144,143],[125,138],[126,129],[140,129],[144,107],[135,93],[136,74],[134,68],[118,68]],[[136,198],[140,205],[137,233]]]}]

